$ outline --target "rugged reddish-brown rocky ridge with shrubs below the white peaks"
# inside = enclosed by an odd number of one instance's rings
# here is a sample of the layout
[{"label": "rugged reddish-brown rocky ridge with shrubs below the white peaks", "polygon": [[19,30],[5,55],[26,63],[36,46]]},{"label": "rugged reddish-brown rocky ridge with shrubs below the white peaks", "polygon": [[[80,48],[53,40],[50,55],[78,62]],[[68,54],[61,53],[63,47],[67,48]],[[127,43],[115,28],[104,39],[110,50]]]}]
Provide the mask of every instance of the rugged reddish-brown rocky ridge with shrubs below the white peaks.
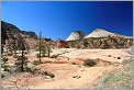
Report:
[{"label": "rugged reddish-brown rocky ridge with shrubs below the white peaks", "polygon": [[133,45],[133,40],[122,37],[98,37],[68,42],[69,47],[76,48],[126,48]]}]

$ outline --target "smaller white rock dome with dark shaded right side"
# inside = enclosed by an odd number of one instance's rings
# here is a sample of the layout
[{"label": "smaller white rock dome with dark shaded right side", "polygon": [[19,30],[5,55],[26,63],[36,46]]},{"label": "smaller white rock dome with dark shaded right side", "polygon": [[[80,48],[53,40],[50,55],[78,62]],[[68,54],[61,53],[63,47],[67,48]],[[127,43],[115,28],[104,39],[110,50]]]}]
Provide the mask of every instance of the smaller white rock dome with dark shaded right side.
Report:
[{"label": "smaller white rock dome with dark shaded right side", "polygon": [[83,38],[85,34],[81,31],[75,31],[72,32],[69,37],[66,41],[75,41],[75,40],[80,40]]}]

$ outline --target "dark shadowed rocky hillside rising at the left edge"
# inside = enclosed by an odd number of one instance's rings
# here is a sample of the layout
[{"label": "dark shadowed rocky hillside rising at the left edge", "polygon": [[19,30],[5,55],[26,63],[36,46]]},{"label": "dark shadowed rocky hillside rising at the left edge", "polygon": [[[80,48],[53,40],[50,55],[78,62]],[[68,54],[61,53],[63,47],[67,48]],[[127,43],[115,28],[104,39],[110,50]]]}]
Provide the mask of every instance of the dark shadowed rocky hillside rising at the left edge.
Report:
[{"label": "dark shadowed rocky hillside rising at the left edge", "polygon": [[[21,31],[15,25],[1,21],[1,43],[5,44],[5,41],[13,47],[15,43],[20,44],[22,37],[31,49],[37,45],[37,35],[34,32]],[[19,46],[19,45],[18,45]],[[21,47],[19,47],[21,48]]]}]

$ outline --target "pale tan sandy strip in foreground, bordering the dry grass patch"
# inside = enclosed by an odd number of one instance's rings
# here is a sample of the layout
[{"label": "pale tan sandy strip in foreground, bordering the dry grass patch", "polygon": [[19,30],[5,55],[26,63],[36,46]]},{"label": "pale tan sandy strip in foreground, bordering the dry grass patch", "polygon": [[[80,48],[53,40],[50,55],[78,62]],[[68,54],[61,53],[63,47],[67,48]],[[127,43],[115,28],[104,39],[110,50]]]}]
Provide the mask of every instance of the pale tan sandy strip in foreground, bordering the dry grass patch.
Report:
[{"label": "pale tan sandy strip in foreground, bordering the dry grass patch", "polygon": [[[118,67],[119,68],[119,67]],[[58,79],[55,81],[44,82],[38,87],[31,87],[33,89],[78,89],[78,88],[92,88],[92,85],[102,75],[116,69],[113,66],[109,67],[91,67],[91,68],[79,68],[78,71],[71,72],[70,77]]]}]

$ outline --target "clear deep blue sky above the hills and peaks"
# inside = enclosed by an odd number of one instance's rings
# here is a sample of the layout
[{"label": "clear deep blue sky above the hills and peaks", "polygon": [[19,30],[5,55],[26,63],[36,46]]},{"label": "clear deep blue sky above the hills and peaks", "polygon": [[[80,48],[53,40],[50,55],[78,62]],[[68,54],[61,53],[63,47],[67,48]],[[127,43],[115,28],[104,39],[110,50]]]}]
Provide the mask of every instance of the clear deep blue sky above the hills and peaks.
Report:
[{"label": "clear deep blue sky above the hills and peaks", "polygon": [[2,1],[2,20],[52,40],[66,40],[74,31],[89,34],[96,29],[132,36],[133,2]]}]

